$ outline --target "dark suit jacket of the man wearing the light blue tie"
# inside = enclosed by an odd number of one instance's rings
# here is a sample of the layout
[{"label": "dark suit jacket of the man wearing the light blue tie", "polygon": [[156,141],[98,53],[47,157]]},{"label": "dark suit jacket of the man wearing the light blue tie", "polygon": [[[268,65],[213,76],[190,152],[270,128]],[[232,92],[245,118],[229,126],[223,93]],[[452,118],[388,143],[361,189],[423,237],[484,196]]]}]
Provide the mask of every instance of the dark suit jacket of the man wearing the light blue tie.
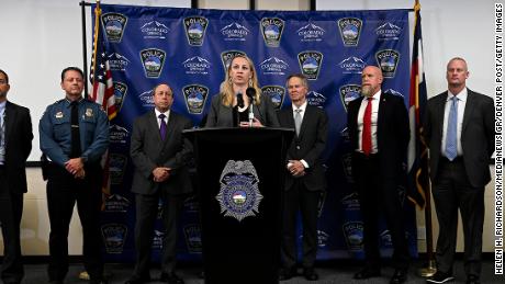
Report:
[{"label": "dark suit jacket of the man wearing the light blue tie", "polygon": [[[494,102],[487,95],[468,90],[461,129],[463,161],[472,186],[482,188],[491,181],[490,157],[494,151]],[[430,179],[438,173],[441,157],[444,111],[448,92],[428,100],[424,133],[429,147]]]}]

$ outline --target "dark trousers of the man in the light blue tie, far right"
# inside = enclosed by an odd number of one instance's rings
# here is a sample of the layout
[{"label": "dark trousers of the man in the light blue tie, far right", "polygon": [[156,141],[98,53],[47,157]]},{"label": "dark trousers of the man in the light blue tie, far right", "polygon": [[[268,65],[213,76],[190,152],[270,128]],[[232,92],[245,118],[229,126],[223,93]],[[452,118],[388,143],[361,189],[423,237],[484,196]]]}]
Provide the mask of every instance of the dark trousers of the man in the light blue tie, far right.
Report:
[{"label": "dark trousers of the man in the light blue tie, far right", "polygon": [[436,259],[438,270],[451,272],[456,253],[458,208],[464,235],[464,271],[481,274],[484,188],[473,188],[461,158],[450,162],[441,158],[433,183],[433,195],[440,226]]}]

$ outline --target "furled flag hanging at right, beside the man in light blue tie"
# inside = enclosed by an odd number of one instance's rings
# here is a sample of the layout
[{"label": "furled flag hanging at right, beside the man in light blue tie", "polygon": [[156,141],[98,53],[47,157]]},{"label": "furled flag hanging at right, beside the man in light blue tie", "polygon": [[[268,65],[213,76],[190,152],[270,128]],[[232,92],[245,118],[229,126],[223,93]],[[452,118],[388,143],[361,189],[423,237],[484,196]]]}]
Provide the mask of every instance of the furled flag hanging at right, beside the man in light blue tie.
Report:
[{"label": "furled flag hanging at right, beside the man in light blue tie", "polygon": [[423,37],[420,32],[420,4],[416,0],[414,7],[415,26],[412,52],[411,91],[408,117],[411,124],[411,141],[408,144],[407,197],[424,208],[426,195],[429,193],[428,148],[423,137],[422,118],[427,103],[425,72],[423,70]]}]

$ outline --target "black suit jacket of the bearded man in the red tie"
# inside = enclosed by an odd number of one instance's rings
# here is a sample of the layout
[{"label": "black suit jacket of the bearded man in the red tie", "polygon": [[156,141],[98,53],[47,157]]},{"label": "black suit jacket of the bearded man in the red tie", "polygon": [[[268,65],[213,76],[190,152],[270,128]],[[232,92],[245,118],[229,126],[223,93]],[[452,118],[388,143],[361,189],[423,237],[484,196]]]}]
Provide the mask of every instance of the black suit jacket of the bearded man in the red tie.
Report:
[{"label": "black suit jacket of the bearded man in the red tie", "polygon": [[[363,96],[350,102],[347,113],[347,127],[352,145],[352,155],[356,155],[359,139],[361,139],[358,137],[358,112],[362,100]],[[377,144],[381,175],[386,178],[400,177],[403,173],[402,163],[405,161],[411,137],[403,98],[382,92],[378,120]],[[352,162],[352,164],[355,163]],[[352,170],[355,169],[357,169],[356,166],[352,167]]]}]

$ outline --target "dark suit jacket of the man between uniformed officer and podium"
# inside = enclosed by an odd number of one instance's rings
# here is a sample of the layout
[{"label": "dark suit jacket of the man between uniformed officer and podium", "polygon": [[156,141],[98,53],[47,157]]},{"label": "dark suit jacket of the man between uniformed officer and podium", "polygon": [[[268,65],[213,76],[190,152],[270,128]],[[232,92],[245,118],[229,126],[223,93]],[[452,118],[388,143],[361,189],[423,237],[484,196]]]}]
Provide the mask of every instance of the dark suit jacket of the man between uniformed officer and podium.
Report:
[{"label": "dark suit jacket of the man between uniformed officer and podium", "polygon": [[[130,155],[135,164],[132,192],[155,194],[158,190],[169,194],[191,192],[187,162],[191,155],[191,144],[182,137],[182,130],[192,127],[191,122],[170,111],[165,140],[161,139],[155,111],[149,111],[135,120],[130,145]],[[153,181],[153,170],[157,167],[171,168],[165,182]]]}]

